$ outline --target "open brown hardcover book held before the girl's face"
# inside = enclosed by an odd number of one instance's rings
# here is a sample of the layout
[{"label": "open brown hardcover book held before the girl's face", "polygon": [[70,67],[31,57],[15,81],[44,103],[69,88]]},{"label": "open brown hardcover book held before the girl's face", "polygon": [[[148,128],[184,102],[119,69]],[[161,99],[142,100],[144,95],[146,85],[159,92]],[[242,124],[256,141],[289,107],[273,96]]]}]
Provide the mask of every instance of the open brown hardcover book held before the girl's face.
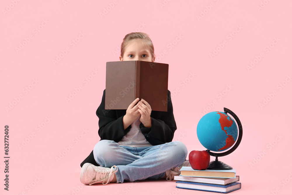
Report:
[{"label": "open brown hardcover book held before the girl's face", "polygon": [[105,109],[127,109],[145,99],[153,111],[167,111],[168,64],[146,61],[107,62]]}]

